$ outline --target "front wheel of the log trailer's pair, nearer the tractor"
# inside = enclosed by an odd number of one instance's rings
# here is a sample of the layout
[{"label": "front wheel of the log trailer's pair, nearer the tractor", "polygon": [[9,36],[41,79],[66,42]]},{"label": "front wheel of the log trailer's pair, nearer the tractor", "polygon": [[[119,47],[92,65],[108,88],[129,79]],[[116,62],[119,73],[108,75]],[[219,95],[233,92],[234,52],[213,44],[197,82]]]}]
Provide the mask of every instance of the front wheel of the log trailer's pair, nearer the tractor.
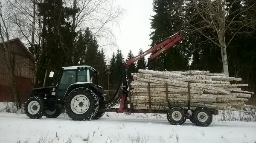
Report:
[{"label": "front wheel of the log trailer's pair, nearer the tractor", "polygon": [[186,111],[179,106],[171,107],[167,111],[167,119],[172,125],[182,125],[186,121]]}]

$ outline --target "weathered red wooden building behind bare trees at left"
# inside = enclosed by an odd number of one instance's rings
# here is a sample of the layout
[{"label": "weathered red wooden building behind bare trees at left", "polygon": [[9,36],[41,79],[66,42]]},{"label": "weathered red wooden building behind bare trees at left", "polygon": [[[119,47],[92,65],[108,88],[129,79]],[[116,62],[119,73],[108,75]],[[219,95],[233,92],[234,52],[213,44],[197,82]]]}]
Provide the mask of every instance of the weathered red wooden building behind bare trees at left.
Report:
[{"label": "weathered red wooden building behind bare trees at left", "polygon": [[[27,94],[34,85],[35,59],[20,39],[9,40],[8,48],[15,63],[15,81],[20,101],[26,101]],[[0,102],[14,102],[11,80],[3,56],[3,43],[0,43]]]}]

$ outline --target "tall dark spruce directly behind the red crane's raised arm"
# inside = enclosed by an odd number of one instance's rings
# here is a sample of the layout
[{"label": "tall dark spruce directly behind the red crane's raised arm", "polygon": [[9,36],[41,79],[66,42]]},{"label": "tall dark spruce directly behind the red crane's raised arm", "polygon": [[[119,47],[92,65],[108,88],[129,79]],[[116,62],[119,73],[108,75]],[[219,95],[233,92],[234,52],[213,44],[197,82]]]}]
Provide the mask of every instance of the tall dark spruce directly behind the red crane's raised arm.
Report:
[{"label": "tall dark spruce directly behind the red crane's raised arm", "polygon": [[[151,19],[151,29],[154,30],[150,34],[151,46],[182,28],[182,5],[183,0],[154,0],[153,11],[156,14]],[[178,44],[161,53],[152,63],[157,70],[186,70],[190,55],[188,45]]]}]

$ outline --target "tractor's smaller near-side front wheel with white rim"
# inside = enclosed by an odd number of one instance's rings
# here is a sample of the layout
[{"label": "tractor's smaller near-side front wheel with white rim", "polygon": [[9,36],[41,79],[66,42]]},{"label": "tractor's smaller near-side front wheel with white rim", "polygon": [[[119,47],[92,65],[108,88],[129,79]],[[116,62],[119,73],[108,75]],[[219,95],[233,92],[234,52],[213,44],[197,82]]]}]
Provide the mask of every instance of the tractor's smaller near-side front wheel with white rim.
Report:
[{"label": "tractor's smaller near-side front wheel with white rim", "polygon": [[43,117],[44,101],[37,96],[30,97],[25,102],[25,113],[31,119],[39,119]]}]

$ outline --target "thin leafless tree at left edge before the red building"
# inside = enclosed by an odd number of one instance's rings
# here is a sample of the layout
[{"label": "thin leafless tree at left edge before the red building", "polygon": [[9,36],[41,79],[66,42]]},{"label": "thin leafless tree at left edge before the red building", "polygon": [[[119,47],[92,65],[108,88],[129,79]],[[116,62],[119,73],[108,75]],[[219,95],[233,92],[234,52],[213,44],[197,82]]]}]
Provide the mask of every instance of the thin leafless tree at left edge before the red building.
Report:
[{"label": "thin leafless tree at left edge before the red building", "polygon": [[[3,58],[5,61],[5,65],[6,65],[6,73],[10,78],[10,86],[12,88],[12,94],[14,96],[14,100],[15,100],[15,104],[16,107],[19,108],[20,107],[20,99],[19,96],[17,95],[17,89],[16,89],[16,84],[15,84],[15,56],[14,54],[12,54],[11,49],[9,47],[9,28],[8,25],[6,24],[6,21],[3,17],[3,9],[2,9],[2,3],[0,1],[0,36],[1,36],[1,40],[3,43],[3,52],[1,52],[3,54]],[[6,39],[6,42],[5,42]],[[5,67],[3,67],[5,68]]]}]

